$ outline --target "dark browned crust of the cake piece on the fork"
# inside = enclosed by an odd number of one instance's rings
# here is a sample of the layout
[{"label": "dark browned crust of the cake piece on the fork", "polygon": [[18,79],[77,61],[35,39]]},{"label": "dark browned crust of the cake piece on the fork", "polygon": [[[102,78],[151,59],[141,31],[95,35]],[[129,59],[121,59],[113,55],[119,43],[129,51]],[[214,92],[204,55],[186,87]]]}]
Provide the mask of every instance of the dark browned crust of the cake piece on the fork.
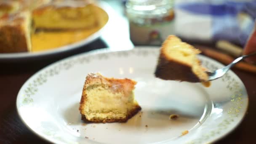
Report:
[{"label": "dark browned crust of the cake piece on the fork", "polygon": [[[173,35],[170,35],[163,43],[160,48],[160,55],[158,58],[157,67],[155,69],[155,77],[158,77],[163,80],[178,80],[178,81],[187,81],[192,83],[200,82],[200,78],[192,72],[192,67],[189,64],[182,63],[181,61],[177,61],[176,59],[171,59],[168,57],[168,53],[165,52],[165,48],[170,43],[171,39],[177,38]],[[199,50],[192,47],[184,42],[180,42],[186,44],[188,48],[193,49],[197,53],[200,53]],[[197,61],[200,64],[200,61]]]}]

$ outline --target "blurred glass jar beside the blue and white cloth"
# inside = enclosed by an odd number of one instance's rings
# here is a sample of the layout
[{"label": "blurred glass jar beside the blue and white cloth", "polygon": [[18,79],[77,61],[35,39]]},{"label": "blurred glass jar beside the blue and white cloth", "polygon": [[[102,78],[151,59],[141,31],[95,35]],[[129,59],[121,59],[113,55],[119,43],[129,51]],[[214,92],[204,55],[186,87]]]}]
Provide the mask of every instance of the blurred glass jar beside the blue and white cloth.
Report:
[{"label": "blurred glass jar beside the blue and white cloth", "polygon": [[128,0],[130,38],[134,45],[161,45],[175,34],[173,0]]}]

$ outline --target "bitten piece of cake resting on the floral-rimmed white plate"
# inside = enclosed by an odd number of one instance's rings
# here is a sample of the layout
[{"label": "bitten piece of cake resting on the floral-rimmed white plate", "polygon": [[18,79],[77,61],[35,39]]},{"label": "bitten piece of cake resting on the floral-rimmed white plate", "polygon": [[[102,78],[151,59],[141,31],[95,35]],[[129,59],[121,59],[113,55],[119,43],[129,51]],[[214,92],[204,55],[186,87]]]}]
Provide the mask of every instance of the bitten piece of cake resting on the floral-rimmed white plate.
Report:
[{"label": "bitten piece of cake resting on the floral-rimmed white plate", "polygon": [[94,123],[126,122],[141,107],[134,99],[136,81],[87,75],[80,101],[82,120]]}]

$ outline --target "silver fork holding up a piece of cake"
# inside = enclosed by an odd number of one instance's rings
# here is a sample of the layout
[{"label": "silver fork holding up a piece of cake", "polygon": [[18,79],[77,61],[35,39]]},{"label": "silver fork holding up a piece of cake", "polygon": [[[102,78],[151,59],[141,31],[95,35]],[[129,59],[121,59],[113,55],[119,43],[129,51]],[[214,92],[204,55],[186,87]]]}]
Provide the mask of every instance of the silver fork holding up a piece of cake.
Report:
[{"label": "silver fork holding up a piece of cake", "polygon": [[234,61],[232,61],[232,63],[230,63],[226,67],[223,67],[221,69],[217,69],[217,70],[212,71],[212,72],[207,72],[207,74],[209,76],[208,81],[216,80],[217,78],[222,77],[223,75],[225,75],[229,71],[229,69],[231,69],[235,64],[240,62],[242,59],[245,59],[245,58],[247,58],[249,56],[253,56],[253,55],[256,55],[256,52],[250,53],[248,55],[240,56],[237,59],[235,59]]}]

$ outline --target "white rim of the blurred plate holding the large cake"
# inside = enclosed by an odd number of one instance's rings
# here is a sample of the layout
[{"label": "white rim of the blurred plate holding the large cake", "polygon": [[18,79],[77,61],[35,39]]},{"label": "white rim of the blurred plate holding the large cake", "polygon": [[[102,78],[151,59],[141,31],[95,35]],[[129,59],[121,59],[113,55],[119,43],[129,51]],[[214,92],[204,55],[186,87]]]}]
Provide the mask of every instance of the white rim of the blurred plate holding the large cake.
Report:
[{"label": "white rim of the blurred plate holding the large cake", "polygon": [[[111,16],[110,13],[112,13],[113,10],[106,2],[96,1],[96,5],[99,6],[99,8],[102,8],[109,17]],[[103,27],[101,27],[101,29],[99,29],[97,32],[93,33],[89,37],[86,37],[85,39],[72,43],[70,45],[61,46],[59,48],[54,48],[47,51],[33,52],[33,53],[28,53],[28,52],[0,53],[0,61],[8,61],[8,60],[13,61],[18,59],[36,59],[42,56],[53,56],[59,53],[65,53],[73,49],[80,48],[81,46],[87,45],[91,43],[93,40],[96,40],[97,38],[99,38],[101,36],[102,31],[106,27],[108,27],[108,25],[109,25],[109,21],[107,21],[107,23]]]}]

